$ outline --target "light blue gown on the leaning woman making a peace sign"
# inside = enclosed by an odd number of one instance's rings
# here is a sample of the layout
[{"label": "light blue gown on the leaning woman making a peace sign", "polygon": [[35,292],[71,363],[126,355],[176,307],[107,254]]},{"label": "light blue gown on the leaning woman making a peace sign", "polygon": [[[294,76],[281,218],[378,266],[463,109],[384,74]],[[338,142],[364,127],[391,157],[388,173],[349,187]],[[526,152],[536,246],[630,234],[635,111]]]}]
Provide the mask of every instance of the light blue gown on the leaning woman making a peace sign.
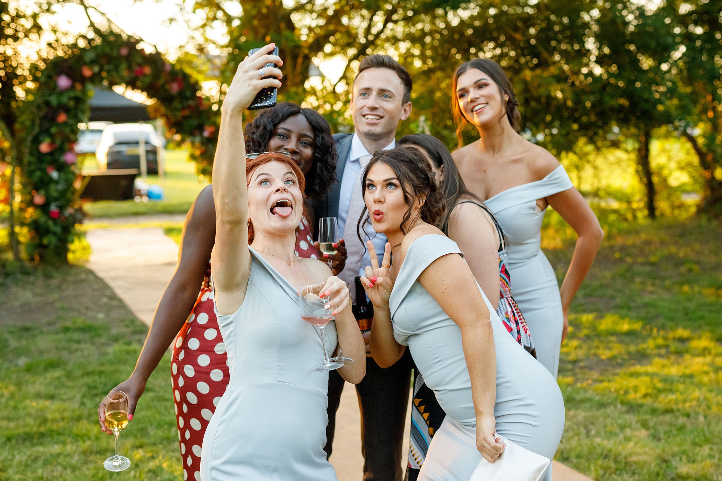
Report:
[{"label": "light blue gown on the leaning woman making a peace sign", "polygon": [[[406,251],[389,299],[393,337],[409,347],[417,369],[446,412],[432,438],[419,481],[468,481],[482,459],[476,445],[477,419],[461,330],[417,281],[434,260],[448,254],[461,255],[456,242],[448,237],[427,234],[416,239]],[[564,431],[559,386],[509,335],[479,284],[470,287],[479,289],[494,332],[497,433],[552,459]],[[551,480],[548,469],[544,481]]]}]

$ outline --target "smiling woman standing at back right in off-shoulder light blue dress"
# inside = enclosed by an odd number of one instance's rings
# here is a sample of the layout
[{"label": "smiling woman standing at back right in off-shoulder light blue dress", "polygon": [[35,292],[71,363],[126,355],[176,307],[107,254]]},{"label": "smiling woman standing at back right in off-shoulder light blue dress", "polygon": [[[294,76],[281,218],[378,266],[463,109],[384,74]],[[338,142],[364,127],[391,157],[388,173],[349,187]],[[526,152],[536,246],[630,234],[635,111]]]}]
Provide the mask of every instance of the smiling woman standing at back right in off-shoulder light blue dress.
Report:
[{"label": "smiling woman standing at back right in off-shoulder light blue dress", "polygon": [[[453,115],[459,149],[453,159],[466,187],[484,200],[506,236],[512,295],[524,313],[536,356],[557,376],[567,314],[594,260],[604,231],[552,154],[519,135],[518,102],[501,67],[475,58],[456,69]],[[462,146],[470,123],[479,140]],[[541,252],[541,221],[552,206],[579,236],[561,290]]]}]

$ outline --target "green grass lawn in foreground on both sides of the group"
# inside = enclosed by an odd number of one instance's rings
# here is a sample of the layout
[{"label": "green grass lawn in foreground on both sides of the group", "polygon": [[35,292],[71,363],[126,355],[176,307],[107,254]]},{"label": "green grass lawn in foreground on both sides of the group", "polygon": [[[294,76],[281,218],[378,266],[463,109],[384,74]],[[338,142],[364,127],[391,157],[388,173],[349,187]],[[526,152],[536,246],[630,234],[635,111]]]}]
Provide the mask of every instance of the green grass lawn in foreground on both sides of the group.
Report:
[{"label": "green grass lawn in foreground on both sides of the group", "polygon": [[[561,276],[572,236],[548,218]],[[602,219],[607,237],[562,347],[557,459],[599,481],[722,480],[722,225]],[[146,327],[84,268],[38,270],[0,293],[0,480],[116,479],[95,409],[130,373]],[[166,356],[121,435],[126,479],[181,476],[168,373]]]}]

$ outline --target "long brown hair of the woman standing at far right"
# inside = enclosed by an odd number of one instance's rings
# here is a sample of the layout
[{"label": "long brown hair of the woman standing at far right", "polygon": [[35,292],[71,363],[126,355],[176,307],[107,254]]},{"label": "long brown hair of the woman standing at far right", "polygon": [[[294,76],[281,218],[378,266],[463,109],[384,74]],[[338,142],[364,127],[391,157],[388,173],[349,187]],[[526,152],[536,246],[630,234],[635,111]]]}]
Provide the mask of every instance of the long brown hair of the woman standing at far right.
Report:
[{"label": "long brown hair of the woman standing at far right", "polygon": [[453,81],[451,82],[451,112],[453,112],[453,120],[454,123],[456,123],[456,138],[460,149],[464,146],[463,132],[469,120],[464,117],[464,112],[462,112],[461,107],[458,106],[456,86],[458,84],[458,77],[469,69],[477,69],[487,74],[499,89],[502,101],[505,95],[509,97],[509,100],[505,102],[506,117],[509,119],[509,123],[515,131],[518,132],[521,130],[519,102],[516,100],[516,94],[514,94],[514,89],[511,87],[509,77],[506,76],[504,70],[495,61],[488,58],[474,58],[474,60],[464,62],[456,67],[456,72],[454,72]]}]

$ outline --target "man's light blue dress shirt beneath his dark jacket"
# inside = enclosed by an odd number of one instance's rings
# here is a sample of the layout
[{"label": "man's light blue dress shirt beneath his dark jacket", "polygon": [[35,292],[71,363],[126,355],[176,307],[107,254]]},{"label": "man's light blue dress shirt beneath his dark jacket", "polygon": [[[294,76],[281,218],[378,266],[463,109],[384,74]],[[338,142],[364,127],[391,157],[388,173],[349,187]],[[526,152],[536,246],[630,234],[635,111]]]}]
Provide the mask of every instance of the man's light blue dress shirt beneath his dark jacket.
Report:
[{"label": "man's light blue dress shirt beneath his dark jacket", "polygon": [[[382,150],[389,150],[393,149],[394,147],[396,147],[395,140],[391,141],[391,144],[388,144]],[[344,228],[346,227],[346,219],[349,214],[349,206],[351,206],[351,193],[354,190],[354,182],[356,181],[359,172],[361,172],[361,162],[359,161],[359,159],[365,155],[371,154],[369,154],[369,152],[366,150],[366,147],[363,146],[363,144],[361,143],[361,139],[358,138],[356,134],[354,134],[353,138],[351,139],[351,150],[349,151],[349,156],[346,159],[346,167],[344,167],[344,175],[341,180],[341,195],[339,195],[338,225],[339,232],[341,234],[343,234]],[[364,226],[364,231],[366,232],[368,238],[371,239],[371,242],[373,242],[373,247],[375,248],[376,254],[378,255],[378,262],[380,265],[381,260],[383,259],[383,247],[386,245],[386,236],[375,232],[370,222]],[[366,239],[364,239],[364,242],[365,241]],[[348,259],[346,261],[348,267],[350,267],[350,260],[351,259]],[[371,257],[368,255],[368,251],[362,257],[361,265],[358,266],[358,275],[364,275],[364,269],[367,265],[371,265]]]}]

